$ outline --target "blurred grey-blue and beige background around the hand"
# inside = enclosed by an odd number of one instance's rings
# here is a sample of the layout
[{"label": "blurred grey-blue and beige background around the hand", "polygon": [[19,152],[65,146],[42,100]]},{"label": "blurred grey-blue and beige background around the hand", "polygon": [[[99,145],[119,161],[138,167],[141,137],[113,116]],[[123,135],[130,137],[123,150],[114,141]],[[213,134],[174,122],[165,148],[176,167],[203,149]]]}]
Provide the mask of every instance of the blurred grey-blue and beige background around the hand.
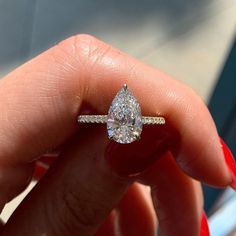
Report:
[{"label": "blurred grey-blue and beige background around the hand", "polygon": [[[192,87],[236,155],[235,27],[235,0],[0,0],[0,76],[68,36],[93,34]],[[235,194],[204,191],[212,235],[230,235]]]}]

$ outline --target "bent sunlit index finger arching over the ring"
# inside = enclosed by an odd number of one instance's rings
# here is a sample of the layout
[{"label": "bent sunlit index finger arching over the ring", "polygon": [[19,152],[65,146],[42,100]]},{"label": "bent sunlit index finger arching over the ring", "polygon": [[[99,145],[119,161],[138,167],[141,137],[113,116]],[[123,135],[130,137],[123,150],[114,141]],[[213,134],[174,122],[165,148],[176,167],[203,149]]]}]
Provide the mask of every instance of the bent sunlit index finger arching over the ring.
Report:
[{"label": "bent sunlit index finger arching over the ring", "polygon": [[177,162],[189,175],[232,179],[214,122],[189,88],[88,35],[73,36],[0,81],[0,163],[30,162],[77,130],[78,113],[106,114],[124,84],[143,115],[163,115],[179,134]]}]

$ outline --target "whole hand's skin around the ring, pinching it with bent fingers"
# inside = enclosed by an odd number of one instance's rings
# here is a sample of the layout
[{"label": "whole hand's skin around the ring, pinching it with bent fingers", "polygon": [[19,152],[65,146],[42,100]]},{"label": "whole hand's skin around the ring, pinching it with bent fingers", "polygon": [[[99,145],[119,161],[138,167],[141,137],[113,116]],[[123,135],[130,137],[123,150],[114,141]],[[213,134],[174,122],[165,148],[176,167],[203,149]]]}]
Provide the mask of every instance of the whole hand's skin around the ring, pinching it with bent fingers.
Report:
[{"label": "whole hand's skin around the ring, pinching it with bent fingers", "polygon": [[[77,124],[78,114],[107,114],[124,83],[143,115],[162,115],[167,125],[119,145],[103,125]],[[0,94],[1,208],[27,186],[40,156],[60,150],[0,235],[151,236],[157,215],[162,235],[197,236],[199,181],[232,181],[201,99],[92,36],[73,36],[17,68]],[[141,183],[151,186],[153,204]]]}]

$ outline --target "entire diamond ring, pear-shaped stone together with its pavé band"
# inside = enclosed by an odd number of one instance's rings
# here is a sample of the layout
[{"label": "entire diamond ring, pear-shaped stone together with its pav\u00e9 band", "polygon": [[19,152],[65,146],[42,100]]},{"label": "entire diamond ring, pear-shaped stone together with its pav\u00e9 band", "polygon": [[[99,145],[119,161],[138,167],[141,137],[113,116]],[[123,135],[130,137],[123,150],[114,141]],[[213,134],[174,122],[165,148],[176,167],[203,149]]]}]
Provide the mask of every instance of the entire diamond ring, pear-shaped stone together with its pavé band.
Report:
[{"label": "entire diamond ring, pear-shaped stone together with its pav\u00e9 band", "polygon": [[125,84],[113,99],[108,115],[79,115],[78,122],[107,124],[110,139],[132,143],[140,139],[143,125],[164,125],[166,121],[161,116],[142,116],[137,99]]}]

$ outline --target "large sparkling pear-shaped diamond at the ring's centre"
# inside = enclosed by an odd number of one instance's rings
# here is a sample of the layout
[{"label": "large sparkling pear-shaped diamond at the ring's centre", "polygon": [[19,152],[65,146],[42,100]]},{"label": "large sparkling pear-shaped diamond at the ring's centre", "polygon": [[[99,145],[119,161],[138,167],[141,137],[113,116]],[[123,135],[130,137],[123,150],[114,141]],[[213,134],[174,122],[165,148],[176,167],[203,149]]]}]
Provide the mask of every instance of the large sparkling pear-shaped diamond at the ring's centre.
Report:
[{"label": "large sparkling pear-shaped diamond at the ring's centre", "polygon": [[124,85],[117,93],[107,117],[108,137],[118,143],[132,143],[142,132],[142,116],[138,101]]}]

